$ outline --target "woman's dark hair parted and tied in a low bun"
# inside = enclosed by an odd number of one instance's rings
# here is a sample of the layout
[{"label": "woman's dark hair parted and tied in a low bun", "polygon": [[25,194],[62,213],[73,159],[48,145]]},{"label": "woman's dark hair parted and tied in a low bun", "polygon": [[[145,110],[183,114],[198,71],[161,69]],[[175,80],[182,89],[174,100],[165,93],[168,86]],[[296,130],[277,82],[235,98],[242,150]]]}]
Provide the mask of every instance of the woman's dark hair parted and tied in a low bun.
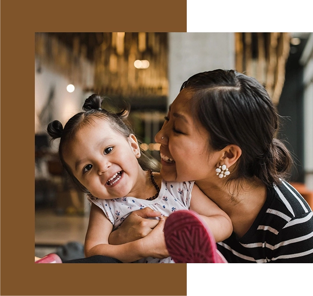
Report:
[{"label": "woman's dark hair parted and tied in a low bun", "polygon": [[292,158],[275,134],[279,115],[266,89],[254,78],[233,70],[191,76],[182,89],[192,91],[192,112],[209,134],[209,147],[229,144],[242,150],[228,181],[258,177],[273,187],[289,176]]}]

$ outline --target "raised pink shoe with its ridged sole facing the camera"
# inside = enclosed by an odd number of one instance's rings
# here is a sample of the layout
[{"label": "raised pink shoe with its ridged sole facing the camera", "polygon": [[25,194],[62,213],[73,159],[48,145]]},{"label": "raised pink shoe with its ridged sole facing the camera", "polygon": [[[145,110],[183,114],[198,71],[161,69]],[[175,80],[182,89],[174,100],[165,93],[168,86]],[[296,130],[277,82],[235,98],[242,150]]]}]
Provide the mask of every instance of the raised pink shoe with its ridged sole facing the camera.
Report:
[{"label": "raised pink shoe with its ridged sole facing the camera", "polygon": [[166,247],[175,263],[227,263],[201,217],[190,210],[172,213],[165,221]]}]

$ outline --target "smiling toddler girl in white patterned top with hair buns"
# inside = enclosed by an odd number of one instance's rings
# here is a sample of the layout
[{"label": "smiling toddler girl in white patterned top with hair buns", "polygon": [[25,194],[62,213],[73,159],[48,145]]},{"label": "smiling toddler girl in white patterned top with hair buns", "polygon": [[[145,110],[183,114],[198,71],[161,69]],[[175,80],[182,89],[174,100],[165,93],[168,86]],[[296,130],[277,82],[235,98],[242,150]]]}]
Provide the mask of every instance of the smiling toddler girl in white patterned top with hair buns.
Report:
[{"label": "smiling toddler girl in white patterned top with hair buns", "polygon": [[[162,180],[155,164],[142,155],[125,122],[128,110],[112,113],[102,109],[101,103],[102,98],[93,94],[86,99],[84,112],[74,115],[64,128],[54,121],[47,129],[53,139],[61,138],[61,162],[91,202],[86,257],[105,255],[124,263],[175,263],[166,249],[163,227],[166,217],[179,210],[198,213],[215,241],[228,238],[232,233],[228,215],[194,182]],[[158,225],[142,239],[109,244],[110,233],[132,211],[146,207],[158,213]]]}]

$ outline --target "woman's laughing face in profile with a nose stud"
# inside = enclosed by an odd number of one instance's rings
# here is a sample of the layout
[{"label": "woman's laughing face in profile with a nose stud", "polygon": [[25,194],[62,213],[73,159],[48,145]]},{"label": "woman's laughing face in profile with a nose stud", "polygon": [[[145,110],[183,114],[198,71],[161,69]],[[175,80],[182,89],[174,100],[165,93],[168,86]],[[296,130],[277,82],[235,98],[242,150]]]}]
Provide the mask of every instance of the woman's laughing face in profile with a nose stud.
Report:
[{"label": "woman's laughing face in profile with a nose stud", "polygon": [[[192,91],[183,89],[170,106],[155,141],[161,143],[161,175],[166,181],[198,181],[216,175],[208,133],[191,114]],[[191,100],[190,100],[191,99]]]}]

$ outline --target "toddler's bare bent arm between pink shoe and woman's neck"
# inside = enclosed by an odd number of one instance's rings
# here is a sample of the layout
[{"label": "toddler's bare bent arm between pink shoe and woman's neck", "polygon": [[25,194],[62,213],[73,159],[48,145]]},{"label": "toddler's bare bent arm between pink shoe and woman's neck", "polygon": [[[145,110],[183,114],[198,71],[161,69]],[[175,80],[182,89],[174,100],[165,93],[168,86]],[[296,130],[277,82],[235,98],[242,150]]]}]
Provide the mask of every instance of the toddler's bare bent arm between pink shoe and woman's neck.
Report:
[{"label": "toddler's bare bent arm between pink shoe and woman's neck", "polygon": [[229,216],[219,206],[208,198],[196,184],[193,185],[190,200],[190,210],[197,212],[212,231],[215,241],[227,239],[233,225]]}]

